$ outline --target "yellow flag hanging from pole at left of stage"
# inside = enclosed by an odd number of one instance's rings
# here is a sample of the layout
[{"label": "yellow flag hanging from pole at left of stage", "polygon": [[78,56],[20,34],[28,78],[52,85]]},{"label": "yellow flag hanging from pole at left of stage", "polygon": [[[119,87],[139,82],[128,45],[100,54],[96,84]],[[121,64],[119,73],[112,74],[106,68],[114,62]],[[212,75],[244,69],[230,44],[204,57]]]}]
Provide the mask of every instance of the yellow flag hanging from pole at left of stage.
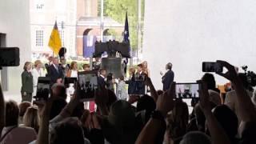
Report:
[{"label": "yellow flag hanging from pole at left of stage", "polygon": [[54,54],[58,54],[58,51],[62,47],[62,40],[61,40],[61,38],[59,36],[59,33],[58,33],[57,22],[55,22],[54,29],[50,34],[50,39],[49,39],[48,46],[50,46],[51,50],[54,51]]}]

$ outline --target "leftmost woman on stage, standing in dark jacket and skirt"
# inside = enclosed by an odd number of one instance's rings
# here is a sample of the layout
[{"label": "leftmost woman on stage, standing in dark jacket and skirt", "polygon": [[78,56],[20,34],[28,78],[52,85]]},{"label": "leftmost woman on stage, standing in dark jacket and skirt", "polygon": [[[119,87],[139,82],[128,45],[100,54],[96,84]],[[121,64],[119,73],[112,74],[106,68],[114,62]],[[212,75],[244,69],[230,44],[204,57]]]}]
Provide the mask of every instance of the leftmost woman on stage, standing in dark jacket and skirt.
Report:
[{"label": "leftmost woman on stage, standing in dark jacket and skirt", "polygon": [[31,73],[32,63],[25,62],[22,72],[22,102],[32,101],[32,93],[33,93],[33,75]]}]

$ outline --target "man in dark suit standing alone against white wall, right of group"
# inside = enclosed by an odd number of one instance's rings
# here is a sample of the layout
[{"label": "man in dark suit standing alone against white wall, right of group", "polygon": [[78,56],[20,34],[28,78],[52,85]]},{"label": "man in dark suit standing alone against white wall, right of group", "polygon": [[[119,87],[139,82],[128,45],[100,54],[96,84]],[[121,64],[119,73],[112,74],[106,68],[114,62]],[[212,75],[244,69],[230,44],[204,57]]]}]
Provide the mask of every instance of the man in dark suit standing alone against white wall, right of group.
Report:
[{"label": "man in dark suit standing alone against white wall, right of group", "polygon": [[[171,70],[172,67],[173,65],[170,62],[166,64],[166,74],[162,76],[162,90],[164,91],[168,90],[170,88],[170,84],[174,82],[174,72]],[[162,72],[160,72],[160,74],[162,75]]]}]

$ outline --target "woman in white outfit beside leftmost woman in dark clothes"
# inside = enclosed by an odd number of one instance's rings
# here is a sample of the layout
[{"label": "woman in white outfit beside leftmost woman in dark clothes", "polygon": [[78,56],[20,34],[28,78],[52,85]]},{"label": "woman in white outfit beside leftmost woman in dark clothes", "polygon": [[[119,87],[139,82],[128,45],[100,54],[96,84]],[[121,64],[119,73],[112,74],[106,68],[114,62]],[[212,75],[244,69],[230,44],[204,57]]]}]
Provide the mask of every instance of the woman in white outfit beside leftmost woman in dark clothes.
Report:
[{"label": "woman in white outfit beside leftmost woman in dark clothes", "polygon": [[32,70],[32,75],[33,75],[33,96],[37,94],[37,86],[38,86],[38,77],[45,77],[46,74],[42,70],[42,62],[40,60],[36,60],[34,62],[34,69]]}]

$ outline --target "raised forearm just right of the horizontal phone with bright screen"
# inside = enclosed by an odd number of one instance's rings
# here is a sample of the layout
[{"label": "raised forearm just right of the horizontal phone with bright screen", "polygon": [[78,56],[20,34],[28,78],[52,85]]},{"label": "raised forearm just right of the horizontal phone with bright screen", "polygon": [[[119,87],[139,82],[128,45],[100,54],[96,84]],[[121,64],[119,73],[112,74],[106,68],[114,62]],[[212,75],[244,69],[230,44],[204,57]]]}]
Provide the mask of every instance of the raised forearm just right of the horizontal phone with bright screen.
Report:
[{"label": "raised forearm just right of the horizontal phone with bright screen", "polygon": [[202,82],[202,90],[199,90],[200,107],[203,114],[206,116],[207,126],[210,131],[210,136],[214,144],[230,144],[230,140],[223,130],[222,126],[218,123],[217,119],[210,109],[209,93],[207,90],[206,82]]}]

